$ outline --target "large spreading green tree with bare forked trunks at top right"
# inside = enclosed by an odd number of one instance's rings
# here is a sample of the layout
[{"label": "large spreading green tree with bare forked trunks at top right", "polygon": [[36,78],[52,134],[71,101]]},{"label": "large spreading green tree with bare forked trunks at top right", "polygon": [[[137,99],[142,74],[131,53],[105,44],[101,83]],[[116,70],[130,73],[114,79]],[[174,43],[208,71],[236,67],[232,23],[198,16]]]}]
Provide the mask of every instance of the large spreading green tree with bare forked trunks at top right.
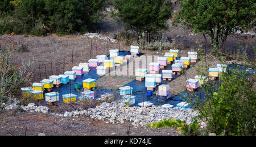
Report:
[{"label": "large spreading green tree with bare forked trunks at top right", "polygon": [[174,23],[181,22],[204,37],[208,34],[213,46],[221,51],[229,35],[255,27],[254,0],[183,0],[180,7]]}]

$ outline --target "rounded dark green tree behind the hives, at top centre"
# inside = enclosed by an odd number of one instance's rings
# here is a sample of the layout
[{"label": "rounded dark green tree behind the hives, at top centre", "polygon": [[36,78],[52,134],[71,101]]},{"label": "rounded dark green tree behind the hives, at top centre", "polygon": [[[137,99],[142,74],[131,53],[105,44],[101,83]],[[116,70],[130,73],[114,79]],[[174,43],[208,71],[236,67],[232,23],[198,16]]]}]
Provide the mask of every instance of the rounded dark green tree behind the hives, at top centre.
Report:
[{"label": "rounded dark green tree behind the hives, at top centre", "polygon": [[114,7],[117,16],[137,32],[162,30],[172,12],[172,2],[165,0],[115,0]]}]

